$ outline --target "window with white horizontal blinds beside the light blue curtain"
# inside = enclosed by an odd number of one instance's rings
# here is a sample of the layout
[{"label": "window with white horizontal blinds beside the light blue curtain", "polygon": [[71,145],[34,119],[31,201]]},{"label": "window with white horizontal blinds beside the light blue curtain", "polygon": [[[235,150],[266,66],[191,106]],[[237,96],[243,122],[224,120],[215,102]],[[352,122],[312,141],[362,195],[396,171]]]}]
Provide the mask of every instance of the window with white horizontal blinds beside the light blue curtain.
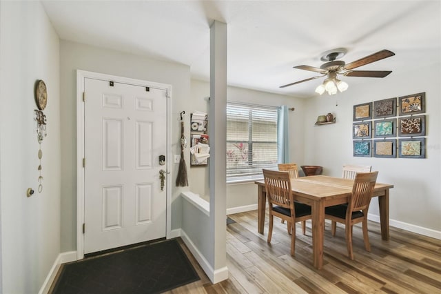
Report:
[{"label": "window with white horizontal blinds beside the light blue curtain", "polygon": [[277,110],[227,103],[227,183],[261,179],[277,167]]}]

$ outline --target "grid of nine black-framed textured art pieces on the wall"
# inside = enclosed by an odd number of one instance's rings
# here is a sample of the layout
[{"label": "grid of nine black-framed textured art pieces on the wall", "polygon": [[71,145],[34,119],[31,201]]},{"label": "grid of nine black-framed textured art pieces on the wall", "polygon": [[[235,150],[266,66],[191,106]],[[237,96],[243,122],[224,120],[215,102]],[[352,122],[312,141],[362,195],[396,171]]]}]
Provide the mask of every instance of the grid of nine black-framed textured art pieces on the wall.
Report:
[{"label": "grid of nine black-framed textured art pieces on the wall", "polygon": [[421,92],[353,106],[353,156],[426,158],[425,99]]}]

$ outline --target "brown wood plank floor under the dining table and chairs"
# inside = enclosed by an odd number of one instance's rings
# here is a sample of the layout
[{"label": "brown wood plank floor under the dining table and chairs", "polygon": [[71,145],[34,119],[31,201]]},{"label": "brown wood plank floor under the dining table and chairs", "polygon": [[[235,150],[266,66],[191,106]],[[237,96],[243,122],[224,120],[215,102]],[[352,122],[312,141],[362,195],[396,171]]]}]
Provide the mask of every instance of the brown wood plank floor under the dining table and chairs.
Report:
[{"label": "brown wood plank floor under the dining table and chairs", "polygon": [[[311,222],[307,235],[296,227],[296,256],[289,255],[291,237],[274,218],[271,244],[257,233],[257,211],[229,215],[227,267],[229,279],[212,284],[183,244],[201,280],[167,293],[441,293],[441,240],[398,228],[383,241],[380,226],[369,222],[371,252],[365,251],[360,226],[353,228],[355,260],[347,258],[344,226],[332,237],[325,227],[324,266],[312,265]],[[268,217],[265,218],[268,221]]]}]

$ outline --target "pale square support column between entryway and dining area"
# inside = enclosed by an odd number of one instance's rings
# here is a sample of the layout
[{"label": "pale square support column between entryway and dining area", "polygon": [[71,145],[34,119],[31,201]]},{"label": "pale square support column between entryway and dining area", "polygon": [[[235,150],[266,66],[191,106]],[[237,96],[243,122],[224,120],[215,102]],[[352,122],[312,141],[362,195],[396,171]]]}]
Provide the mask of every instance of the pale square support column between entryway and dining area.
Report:
[{"label": "pale square support column between entryway and dining area", "polygon": [[[227,25],[214,21],[210,28],[209,103],[209,236],[214,244],[213,283],[228,278],[226,266],[226,140],[227,140]],[[208,237],[208,236],[207,236]]]}]

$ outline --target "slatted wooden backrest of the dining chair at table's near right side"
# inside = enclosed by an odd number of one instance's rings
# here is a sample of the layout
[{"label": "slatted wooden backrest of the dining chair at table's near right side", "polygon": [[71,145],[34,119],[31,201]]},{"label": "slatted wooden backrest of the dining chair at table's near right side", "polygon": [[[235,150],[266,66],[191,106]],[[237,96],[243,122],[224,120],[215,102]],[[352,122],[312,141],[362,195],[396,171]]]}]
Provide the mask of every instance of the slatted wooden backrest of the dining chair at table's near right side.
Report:
[{"label": "slatted wooden backrest of the dining chair at table's near right side", "polygon": [[377,176],[378,171],[356,174],[356,178],[353,180],[351,201],[349,201],[351,211],[369,208]]}]

